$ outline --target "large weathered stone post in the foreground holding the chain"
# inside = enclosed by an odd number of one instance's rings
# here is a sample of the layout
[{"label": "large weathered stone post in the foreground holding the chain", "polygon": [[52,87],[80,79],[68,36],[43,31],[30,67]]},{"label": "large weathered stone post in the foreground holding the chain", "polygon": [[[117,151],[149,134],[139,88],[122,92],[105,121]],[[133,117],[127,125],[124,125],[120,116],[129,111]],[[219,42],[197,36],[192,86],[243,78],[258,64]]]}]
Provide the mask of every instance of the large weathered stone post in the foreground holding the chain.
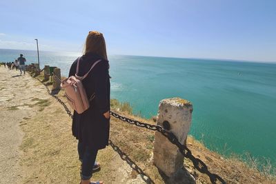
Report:
[{"label": "large weathered stone post in the foreground holding the chain", "polygon": [[[181,144],[186,144],[190,124],[192,121],[193,105],[180,98],[164,99],[159,103],[157,125],[169,130]],[[183,167],[184,156],[176,145],[159,132],[155,132],[153,163],[169,177]]]}]

